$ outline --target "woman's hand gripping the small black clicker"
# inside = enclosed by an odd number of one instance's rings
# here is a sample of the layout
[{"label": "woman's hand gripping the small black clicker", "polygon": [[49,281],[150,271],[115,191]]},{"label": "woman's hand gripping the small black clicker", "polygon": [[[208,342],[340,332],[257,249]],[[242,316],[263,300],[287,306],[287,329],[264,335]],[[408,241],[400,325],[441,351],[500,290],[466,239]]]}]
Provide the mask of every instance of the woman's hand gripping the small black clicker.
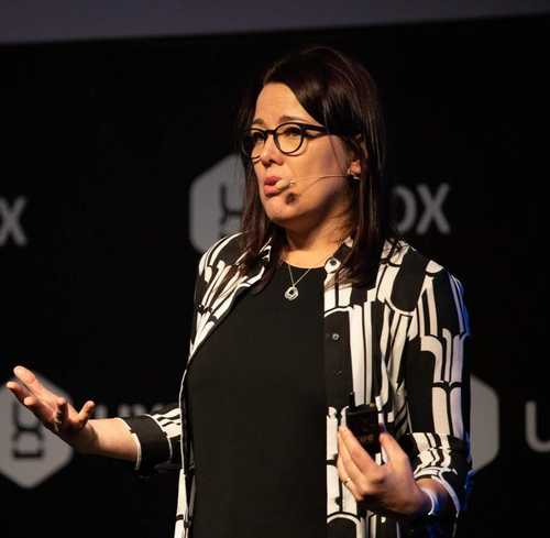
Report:
[{"label": "woman's hand gripping the small black clicker", "polygon": [[[387,462],[378,465],[345,426],[338,431],[338,474],[356,501],[378,514],[414,518],[426,509],[426,494],[418,487],[409,459],[387,432],[380,436]],[[350,480],[348,480],[350,479]]]}]

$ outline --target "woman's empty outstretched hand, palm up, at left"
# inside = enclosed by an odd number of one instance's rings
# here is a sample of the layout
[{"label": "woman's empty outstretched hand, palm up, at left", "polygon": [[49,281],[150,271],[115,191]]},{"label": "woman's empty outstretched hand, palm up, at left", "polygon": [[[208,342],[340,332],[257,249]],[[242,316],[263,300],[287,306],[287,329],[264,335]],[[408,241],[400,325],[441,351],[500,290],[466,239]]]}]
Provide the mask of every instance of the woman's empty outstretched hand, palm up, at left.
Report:
[{"label": "woman's empty outstretched hand, palm up, at left", "polygon": [[48,391],[29,369],[15,366],[13,373],[20,383],[9,381],[6,385],[13,395],[48,430],[77,450],[82,450],[94,437],[88,420],[96,404],[88,400],[80,411],[77,411],[66,398]]}]

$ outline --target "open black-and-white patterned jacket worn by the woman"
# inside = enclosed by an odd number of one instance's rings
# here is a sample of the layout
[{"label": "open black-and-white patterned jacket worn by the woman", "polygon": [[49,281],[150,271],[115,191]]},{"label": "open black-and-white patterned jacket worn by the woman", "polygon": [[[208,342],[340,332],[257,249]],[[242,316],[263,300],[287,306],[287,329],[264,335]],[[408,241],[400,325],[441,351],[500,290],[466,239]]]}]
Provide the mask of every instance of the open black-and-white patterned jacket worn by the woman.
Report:
[{"label": "open black-and-white patterned jacket worn by the woman", "polygon": [[[179,469],[175,538],[189,534],[195,497],[185,406],[187,369],[197,349],[231,312],[237,296],[258,283],[270,263],[267,242],[257,268],[248,276],[237,274],[220,290],[231,265],[242,256],[238,237],[217,241],[200,259],[179,403],[152,415],[124,419],[139,447],[139,473]],[[351,244],[348,238],[324,265],[327,518],[329,529],[334,529],[329,536],[450,536],[464,507],[471,475],[470,374],[465,369],[470,329],[462,286],[441,265],[404,242],[394,252],[387,245],[374,287],[338,282],[327,286]],[[409,528],[364,509],[342,486],[336,465],[337,429],[345,421],[351,389],[356,404],[377,404],[381,419],[409,454],[415,477],[439,481],[452,498],[457,517],[444,525],[428,521]],[[381,458],[378,454],[378,462]]]}]

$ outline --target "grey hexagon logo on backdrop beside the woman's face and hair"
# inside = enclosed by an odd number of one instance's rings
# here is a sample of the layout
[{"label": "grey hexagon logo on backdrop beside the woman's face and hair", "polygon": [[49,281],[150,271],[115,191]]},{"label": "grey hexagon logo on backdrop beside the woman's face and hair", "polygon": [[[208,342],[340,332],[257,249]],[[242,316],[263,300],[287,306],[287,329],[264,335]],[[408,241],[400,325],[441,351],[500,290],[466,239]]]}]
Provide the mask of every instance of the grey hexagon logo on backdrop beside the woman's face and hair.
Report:
[{"label": "grey hexagon logo on backdrop beside the woman's face and hair", "polygon": [[244,169],[237,154],[222,158],[195,178],[189,199],[190,240],[205,252],[241,226]]}]

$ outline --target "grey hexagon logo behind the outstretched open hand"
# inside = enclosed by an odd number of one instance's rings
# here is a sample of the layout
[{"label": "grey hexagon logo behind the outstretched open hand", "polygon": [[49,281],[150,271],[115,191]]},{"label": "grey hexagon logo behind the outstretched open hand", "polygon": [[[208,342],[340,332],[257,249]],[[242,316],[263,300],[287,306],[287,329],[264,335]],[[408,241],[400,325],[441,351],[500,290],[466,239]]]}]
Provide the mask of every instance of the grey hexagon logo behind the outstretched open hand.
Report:
[{"label": "grey hexagon logo behind the outstretched open hand", "polygon": [[[40,382],[59,396],[70,397],[44,376]],[[0,472],[21,487],[35,487],[73,459],[73,449],[44,428],[7,388],[0,388]]]}]

